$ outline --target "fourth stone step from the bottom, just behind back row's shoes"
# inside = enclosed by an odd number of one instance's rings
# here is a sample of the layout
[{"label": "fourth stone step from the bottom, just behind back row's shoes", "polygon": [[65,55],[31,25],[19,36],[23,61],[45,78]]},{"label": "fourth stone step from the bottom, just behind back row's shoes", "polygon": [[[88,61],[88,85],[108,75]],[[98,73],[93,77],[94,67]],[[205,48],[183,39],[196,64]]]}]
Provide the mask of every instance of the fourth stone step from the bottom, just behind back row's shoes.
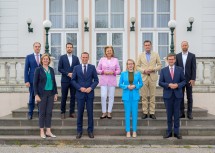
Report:
[{"label": "fourth stone step from the bottom, just behind back row's shoes", "polygon": [[[13,117],[26,117],[27,118],[27,113],[28,109],[27,108],[20,108],[17,110],[12,111],[12,116]],[[186,112],[186,110],[185,110]],[[201,108],[193,108],[193,117],[206,117],[207,116],[207,110],[201,109]],[[94,117],[99,118],[101,116],[101,110],[94,110]],[[166,117],[166,110],[165,109],[156,109],[155,115],[157,117]],[[38,110],[34,111],[34,116],[38,116]],[[52,112],[53,117],[60,117],[60,110],[54,109]],[[87,112],[85,110],[84,116],[87,116]],[[138,111],[138,116],[142,116],[142,110],[139,109]],[[112,117],[124,117],[124,110],[123,109],[113,109],[112,112]]]}]

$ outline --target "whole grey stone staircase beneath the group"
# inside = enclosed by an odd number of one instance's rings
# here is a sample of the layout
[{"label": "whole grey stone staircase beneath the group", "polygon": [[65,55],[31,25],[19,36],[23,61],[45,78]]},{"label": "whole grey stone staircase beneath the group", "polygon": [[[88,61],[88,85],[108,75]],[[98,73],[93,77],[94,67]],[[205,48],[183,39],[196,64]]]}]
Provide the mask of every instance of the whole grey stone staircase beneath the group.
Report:
[{"label": "whole grey stone staircase beneath the group", "polygon": [[[124,106],[120,94],[115,97],[113,119],[99,119],[101,102],[97,92],[94,101],[94,139],[87,136],[87,117],[84,113],[84,134],[80,140],[76,136],[76,118],[60,119],[60,97],[55,102],[52,118],[52,132],[57,138],[39,137],[37,111],[33,120],[27,120],[27,107],[12,111],[12,114],[0,118],[0,144],[73,144],[73,145],[215,145],[215,116],[207,110],[193,108],[193,120],[181,119],[182,140],[163,139],[166,130],[166,111],[162,96],[156,97],[156,120],[141,119],[141,102],[139,103],[138,137],[126,138],[124,131]],[[67,110],[68,110],[67,102]],[[67,114],[68,115],[68,114]]]}]

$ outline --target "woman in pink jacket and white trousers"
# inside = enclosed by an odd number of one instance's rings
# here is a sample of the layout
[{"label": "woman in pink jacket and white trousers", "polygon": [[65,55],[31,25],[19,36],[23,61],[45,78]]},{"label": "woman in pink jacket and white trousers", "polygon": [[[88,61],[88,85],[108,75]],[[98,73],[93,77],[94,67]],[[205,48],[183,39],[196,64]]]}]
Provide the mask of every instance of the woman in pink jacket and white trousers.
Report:
[{"label": "woman in pink jacket and white trousers", "polygon": [[[117,86],[116,75],[120,74],[120,66],[117,58],[114,57],[112,46],[104,48],[105,57],[102,57],[97,67],[100,74],[99,85],[101,86],[102,116],[100,119],[111,119],[111,112],[114,102],[115,87]],[[109,97],[108,110],[106,108],[107,95]]]}]

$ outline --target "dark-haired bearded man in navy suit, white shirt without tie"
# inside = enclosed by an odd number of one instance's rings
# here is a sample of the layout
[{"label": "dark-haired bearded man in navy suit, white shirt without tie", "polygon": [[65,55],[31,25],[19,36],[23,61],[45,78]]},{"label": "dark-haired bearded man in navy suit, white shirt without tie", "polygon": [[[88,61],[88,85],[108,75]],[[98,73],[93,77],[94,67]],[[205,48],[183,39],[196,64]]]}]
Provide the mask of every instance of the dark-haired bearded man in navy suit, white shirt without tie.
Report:
[{"label": "dark-haired bearded man in navy suit, white shirt without tie", "polygon": [[70,90],[70,108],[69,108],[69,117],[75,117],[75,88],[70,83],[72,78],[72,71],[76,65],[79,65],[79,59],[77,56],[72,55],[73,44],[66,44],[66,52],[60,57],[58,63],[58,71],[62,74],[61,77],[61,119],[65,119],[66,115],[66,100],[68,95],[68,90]]}]

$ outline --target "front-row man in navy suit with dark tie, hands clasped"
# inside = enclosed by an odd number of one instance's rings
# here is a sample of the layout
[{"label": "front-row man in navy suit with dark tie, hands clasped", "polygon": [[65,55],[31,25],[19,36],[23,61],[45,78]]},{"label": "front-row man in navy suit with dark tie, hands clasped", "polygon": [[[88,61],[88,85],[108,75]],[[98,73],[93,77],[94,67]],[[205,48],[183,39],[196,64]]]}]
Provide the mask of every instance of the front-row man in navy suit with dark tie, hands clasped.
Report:
[{"label": "front-row man in navy suit with dark tie, hands clasped", "polygon": [[94,138],[93,100],[94,89],[99,83],[95,66],[88,64],[89,54],[87,52],[81,54],[81,60],[82,64],[74,67],[71,81],[76,88],[76,98],[78,102],[77,139],[80,139],[82,136],[85,103],[88,116],[88,136]]}]

